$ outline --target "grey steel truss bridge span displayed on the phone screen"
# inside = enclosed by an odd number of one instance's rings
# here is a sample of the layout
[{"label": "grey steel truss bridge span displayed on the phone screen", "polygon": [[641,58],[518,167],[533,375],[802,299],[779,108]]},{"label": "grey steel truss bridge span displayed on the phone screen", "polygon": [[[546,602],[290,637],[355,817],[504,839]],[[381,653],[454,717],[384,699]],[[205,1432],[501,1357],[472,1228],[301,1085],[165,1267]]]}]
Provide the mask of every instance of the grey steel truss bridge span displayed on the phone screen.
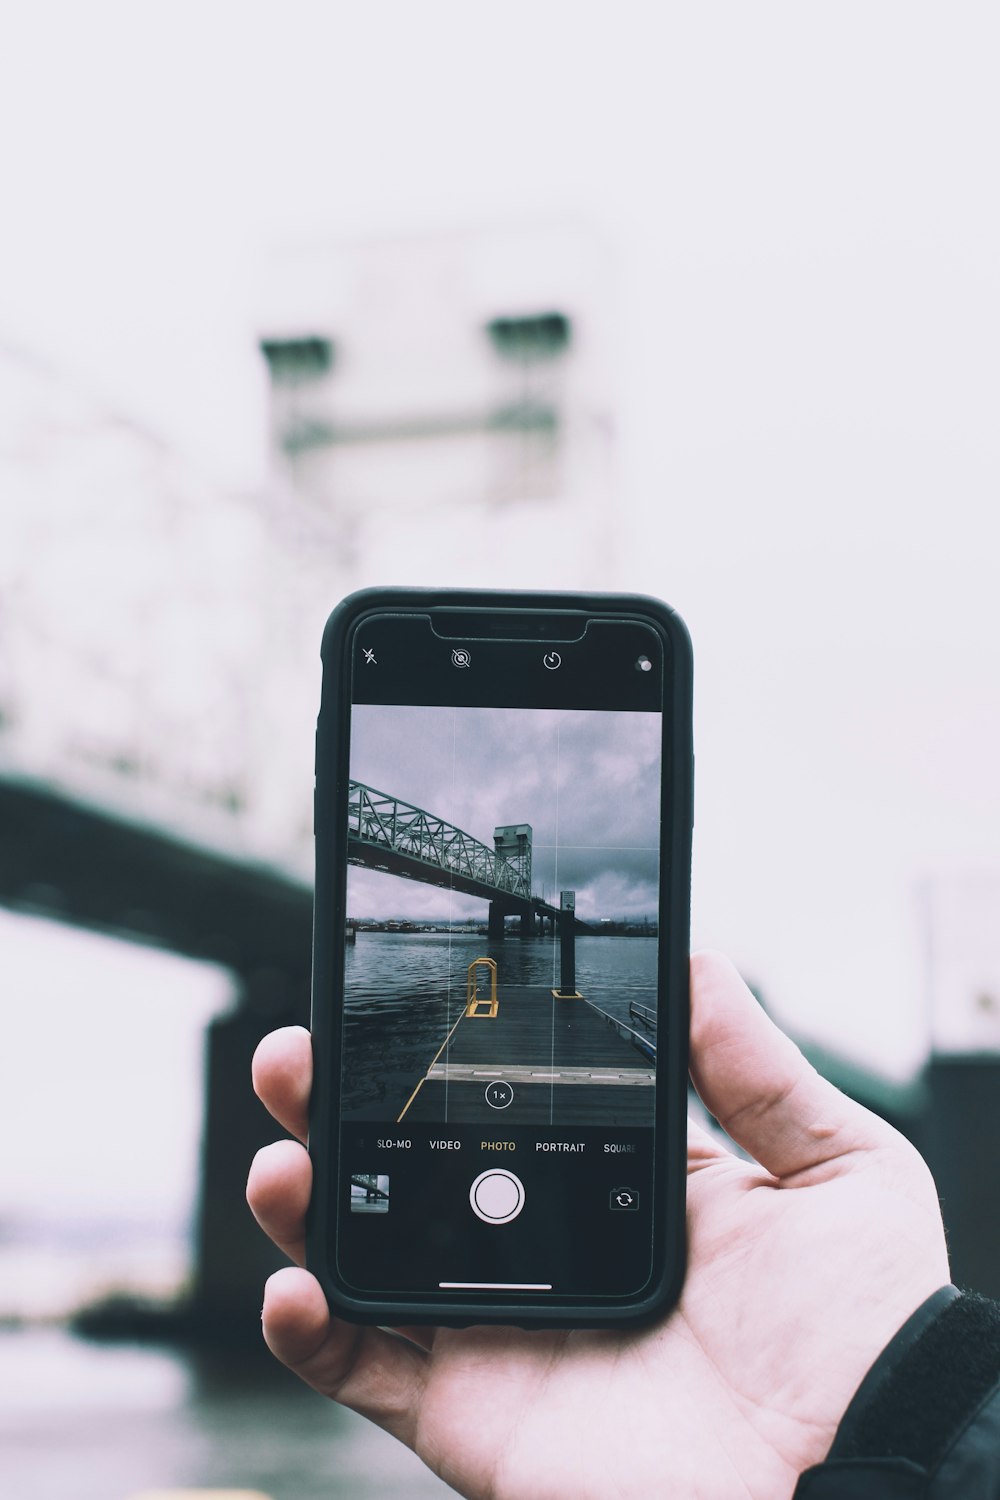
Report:
[{"label": "grey steel truss bridge span displayed on the phone screen", "polygon": [[[444,818],[363,782],[348,786],[348,861],[478,896],[490,903],[492,924],[511,912],[529,922],[558,916],[558,908],[531,894],[531,849],[507,860]],[[589,932],[579,921],[576,928]]]}]

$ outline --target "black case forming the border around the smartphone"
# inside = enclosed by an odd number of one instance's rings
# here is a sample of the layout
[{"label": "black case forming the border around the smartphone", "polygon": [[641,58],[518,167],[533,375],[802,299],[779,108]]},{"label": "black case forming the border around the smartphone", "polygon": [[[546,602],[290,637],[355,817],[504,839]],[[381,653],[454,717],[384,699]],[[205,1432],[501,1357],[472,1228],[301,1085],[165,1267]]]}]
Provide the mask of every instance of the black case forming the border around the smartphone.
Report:
[{"label": "black case forming the border around the smartphone", "polygon": [[[343,914],[346,858],[339,834],[339,810],[348,783],[351,711],[351,640],[369,614],[384,610],[583,610],[652,624],[672,657],[670,700],[664,700],[672,738],[664,744],[661,843],[669,850],[660,890],[660,933],[666,934],[666,986],[661,992],[660,1035],[666,1046],[657,1056],[657,1142],[654,1202],[661,1206],[654,1272],[639,1299],[609,1304],[525,1304],[513,1306],[442,1298],[358,1298],[333,1270],[336,1204],[330,1202],[331,1155],[337,1152],[337,1108],[333,1089],[313,1086],[309,1113],[309,1154],[313,1197],[306,1221],[306,1264],[319,1280],[330,1310],[352,1323],[445,1324],[468,1328],[501,1323],[520,1328],[625,1328],[648,1323],[672,1306],[685,1269],[687,1180],[687,1068],[688,1068],[688,946],[691,906],[691,831],[694,756],[691,738],[691,640],[681,616],[657,598],[637,594],[516,592],[472,590],[378,588],[349,594],[330,615],[322,636],[322,698],[316,723],[316,885],[313,904],[312,1047],[313,1080],[339,1077],[340,999],[334,987],[343,970]],[[664,999],[666,996],[666,999]],[[663,1014],[666,1008],[666,1014]]]}]

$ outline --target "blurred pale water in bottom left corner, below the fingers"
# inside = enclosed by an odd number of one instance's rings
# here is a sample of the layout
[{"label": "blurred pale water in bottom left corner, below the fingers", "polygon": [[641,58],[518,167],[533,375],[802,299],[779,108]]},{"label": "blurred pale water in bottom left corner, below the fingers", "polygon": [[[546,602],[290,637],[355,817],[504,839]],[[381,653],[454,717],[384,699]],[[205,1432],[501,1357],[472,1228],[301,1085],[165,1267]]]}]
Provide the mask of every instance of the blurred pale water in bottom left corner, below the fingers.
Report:
[{"label": "blurred pale water in bottom left corner, below the fingers", "polygon": [[268,1500],[454,1492],[265,1354],[90,1344],[55,1328],[0,1334],[0,1494],[130,1500],[174,1488]]}]

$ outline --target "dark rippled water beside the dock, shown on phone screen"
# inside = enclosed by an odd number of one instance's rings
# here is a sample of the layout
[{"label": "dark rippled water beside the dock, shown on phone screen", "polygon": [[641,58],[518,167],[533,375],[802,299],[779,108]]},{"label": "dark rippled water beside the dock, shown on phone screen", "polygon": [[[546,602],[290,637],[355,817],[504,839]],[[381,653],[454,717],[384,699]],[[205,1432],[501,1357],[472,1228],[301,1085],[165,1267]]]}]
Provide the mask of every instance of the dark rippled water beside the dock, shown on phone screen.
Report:
[{"label": "dark rippled water beside the dock, shown on phone screen", "polygon": [[[397,1119],[466,1000],[474,958],[496,962],[504,986],[559,984],[559,944],[477,933],[358,932],[346,946],[346,1098],[358,1118]],[[576,940],[577,988],[628,1023],[633,1000],[655,1006],[655,938]]]}]

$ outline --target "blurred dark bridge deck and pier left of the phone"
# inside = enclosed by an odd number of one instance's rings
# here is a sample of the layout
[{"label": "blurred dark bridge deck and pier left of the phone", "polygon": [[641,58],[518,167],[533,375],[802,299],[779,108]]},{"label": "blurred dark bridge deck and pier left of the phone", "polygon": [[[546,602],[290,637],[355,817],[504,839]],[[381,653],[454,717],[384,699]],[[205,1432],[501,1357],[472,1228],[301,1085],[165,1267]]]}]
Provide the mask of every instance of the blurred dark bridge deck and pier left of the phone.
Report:
[{"label": "blurred dark bridge deck and pier left of the phone", "polygon": [[[0,777],[0,826],[4,906],[30,903],[57,921],[127,934],[235,975],[238,1004],[207,1038],[193,1286],[169,1316],[192,1338],[246,1336],[264,1280],[283,1262],[243,1196],[253,1152],[282,1134],[253,1095],[250,1058],[273,1026],[309,1023],[312,892],[244,855],[186,843],[40,783]],[[154,1038],[136,1044],[133,1065],[156,1068]],[[108,1328],[115,1317],[142,1326],[136,1310],[94,1311],[91,1326],[102,1317]]]}]

